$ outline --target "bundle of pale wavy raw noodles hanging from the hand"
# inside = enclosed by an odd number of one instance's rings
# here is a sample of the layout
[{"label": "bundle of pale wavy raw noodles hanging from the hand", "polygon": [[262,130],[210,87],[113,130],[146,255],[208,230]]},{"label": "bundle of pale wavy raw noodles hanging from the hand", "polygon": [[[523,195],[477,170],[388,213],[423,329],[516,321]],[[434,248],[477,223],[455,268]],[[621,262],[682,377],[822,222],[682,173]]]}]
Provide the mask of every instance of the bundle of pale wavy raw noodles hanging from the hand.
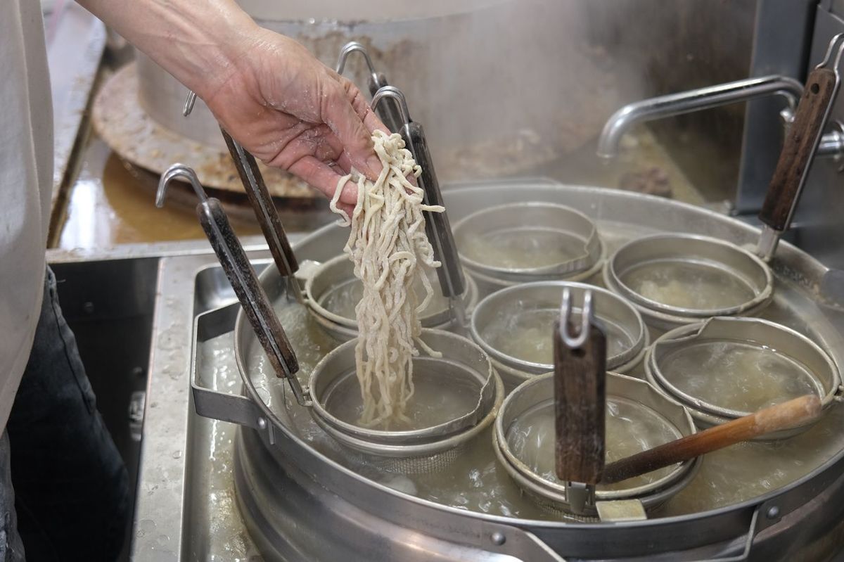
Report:
[{"label": "bundle of pale wavy raw noodles hanging from the hand", "polygon": [[[440,266],[425,235],[422,212],[445,210],[422,204],[423,191],[408,181],[407,176],[419,177],[421,170],[400,135],[376,131],[372,140],[384,166],[381,175],[373,182],[353,170],[338,182],[331,202],[332,210],[351,226],[344,251],[364,287],[354,309],[359,334],[355,366],[363,398],[359,423],[367,427],[409,421],[405,407],[414,394],[417,346],[436,355],[419,339],[418,314],[433,295],[421,267]],[[337,202],[350,178],[357,182],[358,202],[349,219]],[[425,286],[421,302],[413,287],[416,276]]]}]

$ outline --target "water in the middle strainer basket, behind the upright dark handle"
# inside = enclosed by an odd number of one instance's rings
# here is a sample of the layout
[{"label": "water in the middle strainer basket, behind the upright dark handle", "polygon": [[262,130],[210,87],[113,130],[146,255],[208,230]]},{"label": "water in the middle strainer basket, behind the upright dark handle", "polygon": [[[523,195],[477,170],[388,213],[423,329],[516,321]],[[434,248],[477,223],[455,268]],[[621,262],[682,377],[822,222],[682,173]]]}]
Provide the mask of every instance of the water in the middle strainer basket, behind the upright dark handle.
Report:
[{"label": "water in the middle strainer basket, behind the upright dark handle", "polygon": [[[550,368],[554,362],[551,331],[555,320],[560,317],[560,310],[538,308],[525,311],[522,310],[521,302],[513,304],[516,306],[506,306],[489,325],[481,329],[481,338],[503,354],[522,361],[549,365]],[[579,310],[574,312],[576,318],[580,316]],[[633,347],[633,339],[623,327],[605,318],[600,318],[600,321],[607,336],[608,359]]]}]

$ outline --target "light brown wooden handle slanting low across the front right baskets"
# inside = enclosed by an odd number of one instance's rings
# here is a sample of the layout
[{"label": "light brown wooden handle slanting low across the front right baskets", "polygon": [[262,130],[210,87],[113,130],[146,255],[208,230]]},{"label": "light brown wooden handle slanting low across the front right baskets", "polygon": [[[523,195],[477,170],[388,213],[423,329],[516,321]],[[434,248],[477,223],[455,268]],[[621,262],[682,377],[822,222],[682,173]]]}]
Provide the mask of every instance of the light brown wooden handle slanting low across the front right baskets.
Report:
[{"label": "light brown wooden handle slanting low across the front right baskets", "polygon": [[614,484],[640,474],[650,473],[663,468],[700,457],[788,427],[803,424],[820,416],[820,399],[814,395],[794,398],[782,404],[776,404],[743,418],[733,419],[726,424],[716,425],[708,430],[664,445],[642,451],[632,457],[612,462],[603,469],[604,484]]}]

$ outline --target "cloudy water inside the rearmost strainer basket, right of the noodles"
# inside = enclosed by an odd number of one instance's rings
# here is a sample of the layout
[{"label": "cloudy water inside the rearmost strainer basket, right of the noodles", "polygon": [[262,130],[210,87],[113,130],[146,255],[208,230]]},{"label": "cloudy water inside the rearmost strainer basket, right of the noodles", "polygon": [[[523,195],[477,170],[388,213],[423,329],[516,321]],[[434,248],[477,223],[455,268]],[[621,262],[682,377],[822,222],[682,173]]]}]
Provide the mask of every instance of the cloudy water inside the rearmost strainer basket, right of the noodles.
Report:
[{"label": "cloudy water inside the rearmost strainer basket, right of the noodles", "polygon": [[484,235],[467,235],[461,241],[460,252],[487,267],[554,266],[586,254],[581,238],[541,228],[495,230]]}]

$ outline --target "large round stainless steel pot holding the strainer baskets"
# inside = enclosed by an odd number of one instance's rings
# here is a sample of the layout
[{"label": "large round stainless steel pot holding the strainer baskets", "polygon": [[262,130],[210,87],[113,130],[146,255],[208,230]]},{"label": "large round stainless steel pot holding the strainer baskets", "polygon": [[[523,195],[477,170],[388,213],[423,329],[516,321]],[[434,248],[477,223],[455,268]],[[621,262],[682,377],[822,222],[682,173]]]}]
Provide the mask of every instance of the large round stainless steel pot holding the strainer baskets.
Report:
[{"label": "large round stainless steel pot holding the strainer baskets", "polygon": [[[609,246],[662,230],[738,244],[753,244],[758,237],[757,230],[736,219],[630,192],[553,184],[466,185],[444,195],[454,219],[502,203],[565,203],[595,219]],[[330,225],[302,240],[295,251],[300,260],[325,261],[337,254],[346,236],[346,230]],[[841,303],[822,302],[819,292],[828,270],[789,244],[781,245],[772,267],[772,307],[790,311],[797,319],[793,325],[802,324],[803,333],[829,350],[837,365],[844,364]],[[262,274],[262,284],[273,300],[284,299],[274,267]],[[235,353],[248,371],[252,365],[242,350],[255,336],[243,316],[235,327]],[[833,531],[844,521],[840,417],[828,432],[828,457],[802,478],[753,499],[647,521],[539,521],[460,510],[376,484],[315,451],[290,430],[284,408],[268,408],[251,376],[241,371],[241,377],[245,396],[195,389],[194,401],[204,414],[214,406],[220,419],[244,426],[236,444],[235,489],[246,526],[266,559],[813,559],[835,544]]]}]

